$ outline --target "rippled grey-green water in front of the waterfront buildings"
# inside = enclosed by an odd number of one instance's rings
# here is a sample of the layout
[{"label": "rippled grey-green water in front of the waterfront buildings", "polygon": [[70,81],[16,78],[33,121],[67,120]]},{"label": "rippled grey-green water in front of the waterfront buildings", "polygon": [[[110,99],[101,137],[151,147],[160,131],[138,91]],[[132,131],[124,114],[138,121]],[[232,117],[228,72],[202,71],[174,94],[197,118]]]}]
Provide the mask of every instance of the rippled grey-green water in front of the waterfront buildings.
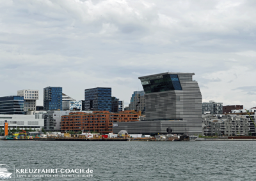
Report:
[{"label": "rippled grey-green water in front of the waterfront buildings", "polygon": [[15,180],[255,180],[255,143],[0,141],[0,164],[15,168],[93,170],[93,178]]}]

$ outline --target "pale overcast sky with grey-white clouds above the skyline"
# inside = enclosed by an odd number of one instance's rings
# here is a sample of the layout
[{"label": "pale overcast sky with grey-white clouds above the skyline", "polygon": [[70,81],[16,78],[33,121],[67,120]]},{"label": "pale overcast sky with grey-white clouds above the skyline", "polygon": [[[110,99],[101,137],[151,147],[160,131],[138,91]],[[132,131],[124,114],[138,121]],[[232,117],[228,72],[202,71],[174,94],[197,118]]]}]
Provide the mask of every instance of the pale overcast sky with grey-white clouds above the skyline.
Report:
[{"label": "pale overcast sky with grey-white clouds above the skyline", "polygon": [[47,86],[82,100],[139,76],[195,73],[203,102],[256,106],[256,1],[0,0],[0,96]]}]

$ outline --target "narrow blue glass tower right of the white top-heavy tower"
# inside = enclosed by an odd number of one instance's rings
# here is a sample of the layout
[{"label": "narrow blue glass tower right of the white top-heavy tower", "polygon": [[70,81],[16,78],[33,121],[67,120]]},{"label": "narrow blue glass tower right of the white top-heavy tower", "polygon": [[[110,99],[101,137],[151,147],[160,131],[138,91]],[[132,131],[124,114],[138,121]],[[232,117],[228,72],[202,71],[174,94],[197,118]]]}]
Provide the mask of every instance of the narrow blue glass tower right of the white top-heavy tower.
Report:
[{"label": "narrow blue glass tower right of the white top-heavy tower", "polygon": [[62,110],[62,87],[44,88],[44,110]]}]

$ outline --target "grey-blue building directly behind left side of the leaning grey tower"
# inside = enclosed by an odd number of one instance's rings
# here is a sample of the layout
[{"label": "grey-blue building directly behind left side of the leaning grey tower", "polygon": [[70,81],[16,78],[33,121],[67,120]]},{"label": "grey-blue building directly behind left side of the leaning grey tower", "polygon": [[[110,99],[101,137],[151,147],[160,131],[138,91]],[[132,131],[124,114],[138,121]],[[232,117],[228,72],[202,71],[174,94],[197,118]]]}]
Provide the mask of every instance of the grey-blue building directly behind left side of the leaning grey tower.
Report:
[{"label": "grey-blue building directly behind left side of the leaning grey tower", "polygon": [[127,110],[141,111],[142,114],[146,112],[145,92],[134,91],[131,97],[130,104]]}]

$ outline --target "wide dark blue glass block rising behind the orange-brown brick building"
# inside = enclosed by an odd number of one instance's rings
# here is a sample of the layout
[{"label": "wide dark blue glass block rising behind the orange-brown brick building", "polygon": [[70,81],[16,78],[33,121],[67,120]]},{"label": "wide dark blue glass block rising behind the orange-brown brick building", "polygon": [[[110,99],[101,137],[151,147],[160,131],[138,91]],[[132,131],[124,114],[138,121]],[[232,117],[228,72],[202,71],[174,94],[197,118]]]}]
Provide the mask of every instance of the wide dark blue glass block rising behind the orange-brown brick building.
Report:
[{"label": "wide dark blue glass block rising behind the orange-brown brick building", "polygon": [[111,112],[111,88],[85,89],[84,110]]}]

